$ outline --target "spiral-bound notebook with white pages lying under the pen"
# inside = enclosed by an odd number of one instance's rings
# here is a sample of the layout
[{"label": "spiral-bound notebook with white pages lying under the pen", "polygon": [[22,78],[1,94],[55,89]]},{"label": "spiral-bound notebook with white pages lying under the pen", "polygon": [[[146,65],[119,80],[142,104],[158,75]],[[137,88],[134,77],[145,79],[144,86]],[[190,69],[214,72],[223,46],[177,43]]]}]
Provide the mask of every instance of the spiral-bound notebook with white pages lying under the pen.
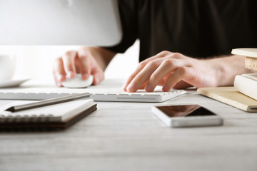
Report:
[{"label": "spiral-bound notebook with white pages lying under the pen", "polygon": [[6,111],[11,106],[31,102],[34,101],[14,101],[0,106],[0,130],[65,129],[96,110],[94,100],[86,99],[31,108],[14,113]]}]

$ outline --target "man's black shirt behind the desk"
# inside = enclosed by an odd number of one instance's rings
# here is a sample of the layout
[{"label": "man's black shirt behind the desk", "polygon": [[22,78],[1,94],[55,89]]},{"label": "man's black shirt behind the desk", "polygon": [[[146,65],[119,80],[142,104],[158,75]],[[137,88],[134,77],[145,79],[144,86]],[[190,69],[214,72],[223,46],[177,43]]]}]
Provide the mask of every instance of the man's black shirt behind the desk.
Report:
[{"label": "man's black shirt behind the desk", "polygon": [[136,38],[140,61],[161,51],[193,58],[257,47],[256,0],[119,0],[123,53]]}]

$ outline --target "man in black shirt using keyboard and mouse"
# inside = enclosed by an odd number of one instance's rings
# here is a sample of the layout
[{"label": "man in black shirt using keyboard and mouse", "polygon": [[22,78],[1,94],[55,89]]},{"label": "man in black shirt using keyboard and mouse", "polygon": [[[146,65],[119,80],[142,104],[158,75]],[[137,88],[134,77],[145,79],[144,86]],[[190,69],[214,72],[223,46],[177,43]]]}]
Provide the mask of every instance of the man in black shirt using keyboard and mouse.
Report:
[{"label": "man in black shirt using keyboard and mouse", "polygon": [[236,75],[251,72],[231,49],[257,47],[256,7],[254,0],[120,0],[121,43],[66,52],[56,59],[54,78],[61,86],[80,72],[85,80],[94,75],[97,85],[116,53],[138,38],[141,63],[124,90],[231,86]]}]

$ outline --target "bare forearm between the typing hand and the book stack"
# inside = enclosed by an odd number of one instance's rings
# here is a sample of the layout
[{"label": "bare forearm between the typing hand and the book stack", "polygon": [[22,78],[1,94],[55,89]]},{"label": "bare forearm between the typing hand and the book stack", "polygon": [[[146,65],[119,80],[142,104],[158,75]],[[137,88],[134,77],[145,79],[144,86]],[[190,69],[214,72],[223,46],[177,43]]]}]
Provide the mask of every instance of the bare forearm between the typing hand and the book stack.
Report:
[{"label": "bare forearm between the typing hand and the book stack", "polygon": [[243,73],[253,73],[245,67],[244,56],[224,56],[220,58],[207,59],[208,63],[214,68],[217,78],[217,86],[233,86],[233,81],[236,75]]}]

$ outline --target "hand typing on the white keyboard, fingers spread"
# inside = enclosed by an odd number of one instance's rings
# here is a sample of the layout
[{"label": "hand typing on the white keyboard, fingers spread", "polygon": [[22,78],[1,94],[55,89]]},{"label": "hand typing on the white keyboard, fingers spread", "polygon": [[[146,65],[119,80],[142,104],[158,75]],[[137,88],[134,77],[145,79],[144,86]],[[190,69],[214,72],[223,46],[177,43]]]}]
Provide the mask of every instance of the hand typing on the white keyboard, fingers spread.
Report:
[{"label": "hand typing on the white keyboard, fingers spread", "polygon": [[153,91],[163,86],[163,91],[171,88],[196,88],[218,86],[218,67],[212,60],[198,60],[181,53],[163,51],[139,63],[124,85],[124,90],[136,92],[144,88]]}]

